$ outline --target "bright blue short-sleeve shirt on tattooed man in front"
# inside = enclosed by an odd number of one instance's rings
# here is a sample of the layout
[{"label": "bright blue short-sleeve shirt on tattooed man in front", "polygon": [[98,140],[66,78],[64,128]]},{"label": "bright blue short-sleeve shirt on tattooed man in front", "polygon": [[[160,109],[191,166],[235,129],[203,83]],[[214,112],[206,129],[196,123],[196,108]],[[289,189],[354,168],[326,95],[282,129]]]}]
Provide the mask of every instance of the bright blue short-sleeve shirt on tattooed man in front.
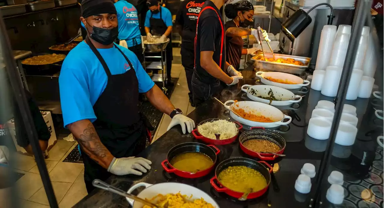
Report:
[{"label": "bright blue short-sleeve shirt on tattooed man in front", "polygon": [[[142,68],[136,55],[127,48],[117,45],[132,63],[131,69],[124,56],[115,47],[98,49],[112,75],[135,70],[139,82],[139,92],[144,93],[154,86],[154,82]],[[107,86],[108,77],[100,61],[87,43],[80,42],[65,58],[59,76],[61,111],[64,126],[89,119],[95,121],[93,105]],[[133,98],[132,98],[133,99]],[[137,99],[137,98],[134,98]]]}]

